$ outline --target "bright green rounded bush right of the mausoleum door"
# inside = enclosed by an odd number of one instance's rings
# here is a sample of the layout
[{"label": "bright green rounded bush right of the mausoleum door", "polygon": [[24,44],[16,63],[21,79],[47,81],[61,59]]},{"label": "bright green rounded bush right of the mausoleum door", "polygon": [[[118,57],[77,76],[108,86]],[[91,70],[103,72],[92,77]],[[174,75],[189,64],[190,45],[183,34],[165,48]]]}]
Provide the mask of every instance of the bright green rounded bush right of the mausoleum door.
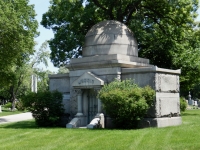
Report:
[{"label": "bright green rounded bush right of the mausoleum door", "polygon": [[136,128],[153,104],[155,91],[138,87],[132,80],[115,80],[105,85],[98,97],[117,128]]}]

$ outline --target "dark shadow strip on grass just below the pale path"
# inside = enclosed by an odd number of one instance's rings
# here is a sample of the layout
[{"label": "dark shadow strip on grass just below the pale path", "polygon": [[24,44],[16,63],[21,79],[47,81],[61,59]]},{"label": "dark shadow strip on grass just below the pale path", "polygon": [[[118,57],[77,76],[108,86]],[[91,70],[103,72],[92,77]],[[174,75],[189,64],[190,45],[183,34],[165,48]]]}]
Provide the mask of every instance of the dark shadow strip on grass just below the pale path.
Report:
[{"label": "dark shadow strip on grass just below the pale path", "polygon": [[14,122],[14,123],[1,124],[0,128],[38,129],[39,127],[35,124],[34,120],[31,120],[31,121],[20,121],[20,122]]}]

